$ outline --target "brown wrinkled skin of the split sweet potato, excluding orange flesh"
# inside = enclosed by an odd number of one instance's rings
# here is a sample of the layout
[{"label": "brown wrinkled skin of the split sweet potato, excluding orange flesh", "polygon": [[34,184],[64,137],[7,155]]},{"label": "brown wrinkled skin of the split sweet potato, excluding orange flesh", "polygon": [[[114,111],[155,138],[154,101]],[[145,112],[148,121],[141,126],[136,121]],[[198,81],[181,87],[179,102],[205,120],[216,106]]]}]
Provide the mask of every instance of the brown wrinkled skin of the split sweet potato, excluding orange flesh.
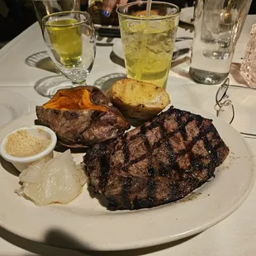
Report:
[{"label": "brown wrinkled skin of the split sweet potato, excluding orange flesh", "polygon": [[[64,90],[78,88],[81,87]],[[89,86],[82,88],[90,92],[91,101],[94,104],[107,107],[107,111],[95,109],[59,110],[36,106],[38,121],[54,130],[61,144],[70,148],[87,147],[114,139],[130,128],[121,112],[112,106],[109,99],[98,88]]]}]

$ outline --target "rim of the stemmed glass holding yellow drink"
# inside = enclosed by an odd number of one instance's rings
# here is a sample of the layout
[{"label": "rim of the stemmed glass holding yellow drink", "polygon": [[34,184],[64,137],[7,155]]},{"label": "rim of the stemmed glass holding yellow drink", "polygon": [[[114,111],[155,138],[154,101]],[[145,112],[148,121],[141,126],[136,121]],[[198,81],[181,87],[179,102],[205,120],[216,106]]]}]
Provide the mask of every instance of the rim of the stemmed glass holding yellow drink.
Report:
[{"label": "rim of the stemmed glass holding yellow drink", "polygon": [[[78,21],[76,23],[71,23],[71,24],[55,24],[55,25],[47,24],[47,21],[49,20],[50,17],[59,17],[65,14],[82,14],[83,17],[85,17],[85,19],[83,21]],[[70,26],[79,26],[83,23],[86,23],[89,20],[90,20],[90,15],[88,14],[88,12],[64,11],[64,12],[54,12],[49,15],[46,15],[45,17],[42,18],[42,24],[47,27],[68,27],[68,26],[70,27]]]}]

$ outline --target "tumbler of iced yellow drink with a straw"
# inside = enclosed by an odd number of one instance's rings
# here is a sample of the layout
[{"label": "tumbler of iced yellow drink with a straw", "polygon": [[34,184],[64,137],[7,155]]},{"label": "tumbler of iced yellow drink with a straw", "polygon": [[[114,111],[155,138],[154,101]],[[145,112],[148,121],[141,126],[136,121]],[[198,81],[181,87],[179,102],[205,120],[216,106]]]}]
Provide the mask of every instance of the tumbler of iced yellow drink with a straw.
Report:
[{"label": "tumbler of iced yellow drink with a straw", "polygon": [[117,8],[128,78],[166,88],[180,8],[168,2],[131,2]]}]

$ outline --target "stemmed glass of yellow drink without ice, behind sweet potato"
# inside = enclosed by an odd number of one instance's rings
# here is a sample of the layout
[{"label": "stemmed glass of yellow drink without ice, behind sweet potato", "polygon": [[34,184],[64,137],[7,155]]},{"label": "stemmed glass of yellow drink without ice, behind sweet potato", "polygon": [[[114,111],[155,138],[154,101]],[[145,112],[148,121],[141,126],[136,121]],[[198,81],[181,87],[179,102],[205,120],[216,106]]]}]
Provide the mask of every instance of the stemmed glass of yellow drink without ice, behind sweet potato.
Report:
[{"label": "stemmed glass of yellow drink without ice, behind sweet potato", "polygon": [[[85,85],[96,54],[95,30],[87,12],[55,12],[42,20],[43,36],[50,59],[57,69],[72,82],[72,86]],[[61,84],[56,84],[58,88]],[[64,84],[64,87],[70,87]],[[40,94],[49,97],[52,88],[40,88]]]}]

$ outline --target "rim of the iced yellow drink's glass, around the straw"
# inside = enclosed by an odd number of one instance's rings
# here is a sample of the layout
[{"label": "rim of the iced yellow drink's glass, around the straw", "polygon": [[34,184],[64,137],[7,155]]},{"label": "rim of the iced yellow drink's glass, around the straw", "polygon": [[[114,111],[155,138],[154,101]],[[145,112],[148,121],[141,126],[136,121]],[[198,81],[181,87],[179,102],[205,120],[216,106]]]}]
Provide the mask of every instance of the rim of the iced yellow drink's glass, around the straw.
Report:
[{"label": "rim of the iced yellow drink's glass, around the straw", "polygon": [[134,19],[134,20],[147,20],[147,21],[165,20],[165,19],[168,19],[168,18],[177,17],[181,12],[181,8],[178,7],[176,4],[173,4],[173,3],[170,3],[170,2],[159,2],[159,1],[152,1],[152,5],[167,5],[169,7],[175,7],[177,9],[177,12],[174,12],[173,14],[168,14],[168,15],[165,15],[165,16],[158,16],[158,17],[154,17],[154,16],[150,16],[150,17],[132,16],[130,14],[126,14],[126,13],[122,12],[126,7],[135,6],[135,5],[139,5],[139,4],[143,4],[143,3],[146,4],[147,1],[126,3],[124,5],[121,5],[121,6],[117,7],[116,12],[121,17],[127,17],[127,18]]}]

